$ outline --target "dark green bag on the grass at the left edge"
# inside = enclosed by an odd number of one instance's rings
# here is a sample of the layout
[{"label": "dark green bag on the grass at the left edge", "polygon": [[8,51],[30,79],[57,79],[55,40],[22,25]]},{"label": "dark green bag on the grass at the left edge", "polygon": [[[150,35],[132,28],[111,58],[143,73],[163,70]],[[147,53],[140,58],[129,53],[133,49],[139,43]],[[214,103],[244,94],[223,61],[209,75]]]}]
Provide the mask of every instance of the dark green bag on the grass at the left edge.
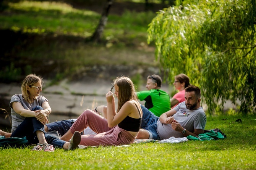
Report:
[{"label": "dark green bag on the grass at the left edge", "polygon": [[16,147],[16,146],[22,146],[24,144],[28,143],[28,140],[26,136],[21,137],[21,138],[5,138],[5,136],[0,135],[0,147]]}]

